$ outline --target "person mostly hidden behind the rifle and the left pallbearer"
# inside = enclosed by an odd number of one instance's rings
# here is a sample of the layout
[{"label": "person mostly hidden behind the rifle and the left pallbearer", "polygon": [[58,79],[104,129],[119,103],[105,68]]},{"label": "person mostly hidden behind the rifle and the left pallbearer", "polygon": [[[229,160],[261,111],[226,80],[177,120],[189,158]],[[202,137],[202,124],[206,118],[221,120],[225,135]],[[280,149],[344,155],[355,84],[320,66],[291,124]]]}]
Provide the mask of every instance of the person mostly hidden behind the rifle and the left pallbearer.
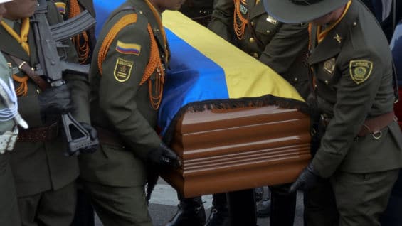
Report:
[{"label": "person mostly hidden behind the rifle and the left pallbearer", "polygon": [[[65,20],[78,16],[84,10],[88,10],[92,17],[95,18],[95,9],[92,0],[58,0],[55,1],[58,11]],[[75,50],[77,50],[79,63],[89,64],[92,58],[92,52],[95,48],[95,26],[87,31],[79,33],[73,38]],[[78,156],[78,160],[80,156]],[[78,179],[77,183],[77,209],[73,226],[90,226],[95,225],[95,214],[90,204],[88,195],[83,190],[83,186]]]}]

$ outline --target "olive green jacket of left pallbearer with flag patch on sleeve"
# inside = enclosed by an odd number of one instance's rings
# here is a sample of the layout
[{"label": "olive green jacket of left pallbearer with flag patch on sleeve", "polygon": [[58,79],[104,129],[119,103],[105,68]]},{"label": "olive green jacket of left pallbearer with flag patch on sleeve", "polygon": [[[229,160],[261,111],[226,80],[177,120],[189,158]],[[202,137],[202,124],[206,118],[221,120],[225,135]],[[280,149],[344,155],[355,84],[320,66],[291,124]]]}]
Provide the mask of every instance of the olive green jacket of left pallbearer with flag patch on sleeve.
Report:
[{"label": "olive green jacket of left pallbearer with flag patch on sleeve", "polygon": [[[134,10],[125,9],[127,7],[134,7]],[[102,131],[98,129],[100,149],[80,157],[80,177],[102,185],[140,186],[146,182],[144,159],[161,142],[154,130],[157,110],[149,101],[148,82],[139,85],[150,58],[148,24],[152,27],[162,58],[167,46],[157,19],[145,1],[126,1],[111,15],[102,28],[92,58],[90,106],[92,125],[111,131],[120,142],[107,144],[109,142],[102,139]],[[136,21],[115,33],[113,27],[127,15],[137,17]],[[105,38],[108,33],[116,35]],[[111,43],[105,59],[98,60],[100,53],[104,53],[102,45],[107,42]],[[101,66],[99,61],[102,61]],[[155,90],[156,71],[150,79]]]}]

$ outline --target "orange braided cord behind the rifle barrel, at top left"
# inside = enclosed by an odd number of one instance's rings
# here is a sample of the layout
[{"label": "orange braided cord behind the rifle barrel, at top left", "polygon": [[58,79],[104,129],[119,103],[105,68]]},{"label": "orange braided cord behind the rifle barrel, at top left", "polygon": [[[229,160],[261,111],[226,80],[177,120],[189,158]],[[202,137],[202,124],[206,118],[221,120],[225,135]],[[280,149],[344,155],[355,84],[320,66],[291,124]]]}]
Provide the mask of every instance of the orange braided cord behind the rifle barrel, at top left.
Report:
[{"label": "orange braided cord behind the rifle barrel, at top left", "polygon": [[[68,18],[73,18],[80,14],[80,5],[77,0],[70,0],[70,14]],[[78,52],[78,61],[80,63],[85,63],[90,55],[90,45],[89,45],[88,33],[83,31],[83,33],[78,34],[73,38],[73,43]]]}]

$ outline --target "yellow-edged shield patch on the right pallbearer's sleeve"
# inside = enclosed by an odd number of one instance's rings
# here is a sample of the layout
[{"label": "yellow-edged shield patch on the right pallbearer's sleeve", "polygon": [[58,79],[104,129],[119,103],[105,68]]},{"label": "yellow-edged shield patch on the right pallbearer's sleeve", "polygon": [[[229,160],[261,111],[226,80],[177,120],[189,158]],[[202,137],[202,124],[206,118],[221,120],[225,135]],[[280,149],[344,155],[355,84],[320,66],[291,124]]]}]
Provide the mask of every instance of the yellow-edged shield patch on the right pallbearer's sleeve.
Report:
[{"label": "yellow-edged shield patch on the right pallbearer's sleeve", "polygon": [[349,63],[350,77],[356,84],[366,81],[373,70],[373,62],[369,60],[351,60]]}]

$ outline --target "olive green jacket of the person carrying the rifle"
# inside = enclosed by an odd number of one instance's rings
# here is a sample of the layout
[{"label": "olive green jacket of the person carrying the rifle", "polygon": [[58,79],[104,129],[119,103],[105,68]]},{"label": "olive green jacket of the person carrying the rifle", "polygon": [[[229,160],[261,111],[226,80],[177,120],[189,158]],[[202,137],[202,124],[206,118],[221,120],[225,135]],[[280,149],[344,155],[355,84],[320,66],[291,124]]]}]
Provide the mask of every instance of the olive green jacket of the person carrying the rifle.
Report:
[{"label": "olive green jacket of the person carrying the rifle", "polygon": [[[47,17],[50,24],[62,20],[55,5],[51,4],[50,1],[48,2]],[[16,32],[19,33],[19,29],[16,29]],[[18,65],[8,55],[14,55],[26,61],[32,67],[38,64],[32,26],[28,33],[28,43],[31,48],[31,55],[29,56],[2,26],[0,26],[0,40],[0,50],[15,70],[17,70]],[[63,58],[68,58],[70,62],[76,62],[74,48],[60,51],[61,53],[68,53],[68,55],[63,54]],[[21,77],[24,73],[19,71],[16,75]],[[67,74],[64,79],[71,90],[73,117],[78,122],[89,123],[88,78],[83,75]],[[19,85],[19,82],[14,82],[15,87]],[[27,95],[18,97],[18,110],[30,128],[46,126],[41,119],[38,92],[41,92],[40,88],[29,79]],[[72,183],[78,177],[77,158],[64,155],[67,144],[62,130],[63,126],[59,123],[58,135],[51,141],[17,141],[15,151],[11,154],[11,168],[16,181],[18,197],[34,195],[51,189],[58,190]]]}]

